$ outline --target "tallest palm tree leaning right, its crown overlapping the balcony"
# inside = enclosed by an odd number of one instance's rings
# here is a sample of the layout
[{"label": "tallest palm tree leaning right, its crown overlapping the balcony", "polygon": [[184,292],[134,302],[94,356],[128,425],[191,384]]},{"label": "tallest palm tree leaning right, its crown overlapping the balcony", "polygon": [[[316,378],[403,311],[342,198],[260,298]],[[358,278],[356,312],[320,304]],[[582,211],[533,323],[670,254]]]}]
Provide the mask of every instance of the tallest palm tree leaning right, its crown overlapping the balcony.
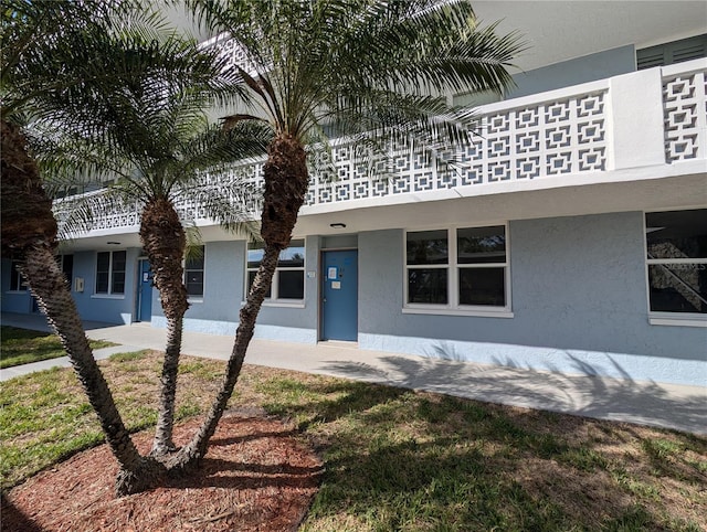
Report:
[{"label": "tallest palm tree leaning right, its crown overlapping the balcony", "polygon": [[[200,430],[175,457],[205,454],[243,364],[277,258],[289,243],[309,173],[307,147],[325,131],[373,148],[411,134],[432,141],[467,135],[440,95],[502,92],[519,44],[482,30],[462,0],[187,0],[197,19],[233,40],[242,113],[273,131],[264,166],[264,257],[251,287],[226,374]],[[446,117],[446,118],[445,118]]]}]

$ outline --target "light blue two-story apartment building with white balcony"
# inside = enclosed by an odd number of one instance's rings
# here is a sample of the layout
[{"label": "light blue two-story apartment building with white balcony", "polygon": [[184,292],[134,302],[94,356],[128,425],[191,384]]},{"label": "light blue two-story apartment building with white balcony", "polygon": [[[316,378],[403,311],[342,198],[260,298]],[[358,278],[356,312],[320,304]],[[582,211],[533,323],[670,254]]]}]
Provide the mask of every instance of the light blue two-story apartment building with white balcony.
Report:
[{"label": "light blue two-story apartment building with white balcony", "polygon": [[[483,104],[456,172],[409,143],[391,146],[395,179],[371,178],[334,142],[256,336],[706,384],[707,4],[475,6],[526,35],[517,87],[450,95]],[[232,172],[257,182],[262,162]],[[184,327],[231,334],[261,251],[181,208],[204,240]],[[64,247],[85,318],[165,327],[138,221],[105,211]],[[1,286],[3,310],[34,311],[8,260]]]}]

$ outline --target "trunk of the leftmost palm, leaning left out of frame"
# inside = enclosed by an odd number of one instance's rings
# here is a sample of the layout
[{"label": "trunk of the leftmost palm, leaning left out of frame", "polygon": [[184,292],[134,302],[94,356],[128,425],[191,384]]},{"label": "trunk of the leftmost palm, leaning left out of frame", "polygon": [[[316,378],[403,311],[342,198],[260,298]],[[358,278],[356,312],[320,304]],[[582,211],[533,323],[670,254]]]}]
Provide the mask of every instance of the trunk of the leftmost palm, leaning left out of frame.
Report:
[{"label": "trunk of the leftmost palm, leaning left out of frame", "polygon": [[[54,260],[56,221],[39,170],[22,134],[2,120],[2,251],[20,260],[19,269],[49,323],[59,334],[106,440],[120,465],[118,496],[145,489],[160,475],[154,460],[143,458],[115,406],[110,389],[93,358],[64,274]],[[7,222],[7,223],[6,223]]]}]

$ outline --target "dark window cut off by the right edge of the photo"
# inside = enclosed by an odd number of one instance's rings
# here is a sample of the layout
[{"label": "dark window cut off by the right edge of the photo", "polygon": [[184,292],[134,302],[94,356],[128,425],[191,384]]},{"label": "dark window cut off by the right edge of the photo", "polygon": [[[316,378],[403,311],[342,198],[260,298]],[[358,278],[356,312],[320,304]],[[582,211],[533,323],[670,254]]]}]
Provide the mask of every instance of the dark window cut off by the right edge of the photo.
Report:
[{"label": "dark window cut off by the right edge of the photo", "polygon": [[707,317],[707,209],[645,215],[651,312]]}]

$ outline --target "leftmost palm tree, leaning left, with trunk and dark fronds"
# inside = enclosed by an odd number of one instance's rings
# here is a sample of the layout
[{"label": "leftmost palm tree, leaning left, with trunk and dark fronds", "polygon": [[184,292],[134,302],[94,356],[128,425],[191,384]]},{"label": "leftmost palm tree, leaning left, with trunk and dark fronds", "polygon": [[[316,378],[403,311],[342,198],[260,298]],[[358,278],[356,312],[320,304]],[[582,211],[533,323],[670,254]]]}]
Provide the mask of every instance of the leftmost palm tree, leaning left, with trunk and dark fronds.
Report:
[{"label": "leftmost palm tree, leaning left, with trunk and dark fronds", "polygon": [[154,485],[165,467],[138,454],[93,358],[54,260],[52,201],[23,126],[43,119],[67,130],[98,130],[96,117],[116,110],[116,92],[126,99],[139,95],[144,102],[160,102],[166,87],[213,75],[211,57],[197,54],[193,43],[166,35],[158,18],[138,10],[138,3],[7,0],[1,12],[2,254],[19,260],[98,415],[120,466],[118,494]]}]

